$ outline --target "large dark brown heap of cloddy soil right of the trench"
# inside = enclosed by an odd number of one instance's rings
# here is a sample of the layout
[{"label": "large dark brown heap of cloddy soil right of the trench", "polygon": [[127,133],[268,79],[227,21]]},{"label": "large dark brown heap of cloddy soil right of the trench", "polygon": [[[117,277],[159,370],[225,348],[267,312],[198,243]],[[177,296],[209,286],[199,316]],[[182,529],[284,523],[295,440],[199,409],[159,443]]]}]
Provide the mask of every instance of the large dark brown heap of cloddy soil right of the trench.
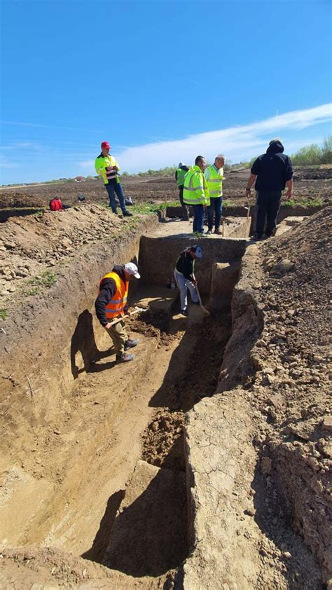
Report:
[{"label": "large dark brown heap of cloddy soil right of the trench", "polygon": [[[285,518],[291,516],[324,577],[332,572],[326,313],[331,302],[331,221],[328,207],[261,247],[265,273],[258,301],[264,327],[250,357],[256,369],[251,404],[265,420],[265,438],[261,428],[256,439],[261,469],[268,488],[284,498]],[[266,526],[272,527],[272,521]]]}]

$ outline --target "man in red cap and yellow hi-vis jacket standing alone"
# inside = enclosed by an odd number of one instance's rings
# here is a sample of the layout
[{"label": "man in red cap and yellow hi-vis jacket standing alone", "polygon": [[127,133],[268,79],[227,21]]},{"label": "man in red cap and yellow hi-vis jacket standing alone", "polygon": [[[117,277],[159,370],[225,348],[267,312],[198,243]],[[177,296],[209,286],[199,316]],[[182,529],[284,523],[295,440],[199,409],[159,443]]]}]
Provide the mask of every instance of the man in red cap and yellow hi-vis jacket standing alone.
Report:
[{"label": "man in red cap and yellow hi-vis jacket standing alone", "polygon": [[111,146],[109,142],[102,142],[102,153],[99,153],[95,161],[95,169],[97,174],[102,177],[106,191],[109,195],[109,206],[113,213],[116,213],[116,195],[120,202],[121,211],[125,217],[132,217],[132,213],[125,208],[125,195],[123,188],[118,179],[118,170],[120,167],[116,158],[110,155],[109,150]]}]

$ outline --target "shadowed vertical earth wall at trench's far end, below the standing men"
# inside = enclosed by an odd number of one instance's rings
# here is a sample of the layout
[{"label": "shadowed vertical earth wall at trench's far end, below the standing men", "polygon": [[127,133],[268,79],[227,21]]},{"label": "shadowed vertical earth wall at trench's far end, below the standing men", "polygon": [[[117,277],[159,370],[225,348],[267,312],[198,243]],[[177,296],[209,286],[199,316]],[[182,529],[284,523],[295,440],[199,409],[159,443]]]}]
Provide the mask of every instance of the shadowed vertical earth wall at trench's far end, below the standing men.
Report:
[{"label": "shadowed vertical earth wall at trench's far end, below the standing men", "polygon": [[244,254],[246,240],[209,238],[147,238],[142,236],[139,249],[139,263],[142,279],[148,284],[166,285],[173,276],[175,263],[182,250],[191,245],[200,245],[202,258],[195,262],[195,275],[200,292],[209,294],[214,262],[240,260]]}]

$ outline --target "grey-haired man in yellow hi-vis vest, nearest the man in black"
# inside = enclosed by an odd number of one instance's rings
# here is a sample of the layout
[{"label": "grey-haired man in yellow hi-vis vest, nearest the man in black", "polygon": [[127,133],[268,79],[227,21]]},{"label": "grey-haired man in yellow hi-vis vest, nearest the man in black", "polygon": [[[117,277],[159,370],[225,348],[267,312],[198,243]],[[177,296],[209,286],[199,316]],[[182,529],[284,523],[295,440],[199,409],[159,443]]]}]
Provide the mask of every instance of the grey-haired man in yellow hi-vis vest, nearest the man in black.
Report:
[{"label": "grey-haired man in yellow hi-vis vest, nearest the man in black", "polygon": [[207,207],[207,233],[212,233],[213,228],[213,215],[215,214],[215,226],[214,233],[221,235],[220,231],[220,220],[221,220],[221,208],[223,204],[223,166],[225,164],[225,157],[222,153],[219,153],[214,158],[214,164],[208,166],[205,170],[204,176],[209,187],[209,195],[211,204]]}]

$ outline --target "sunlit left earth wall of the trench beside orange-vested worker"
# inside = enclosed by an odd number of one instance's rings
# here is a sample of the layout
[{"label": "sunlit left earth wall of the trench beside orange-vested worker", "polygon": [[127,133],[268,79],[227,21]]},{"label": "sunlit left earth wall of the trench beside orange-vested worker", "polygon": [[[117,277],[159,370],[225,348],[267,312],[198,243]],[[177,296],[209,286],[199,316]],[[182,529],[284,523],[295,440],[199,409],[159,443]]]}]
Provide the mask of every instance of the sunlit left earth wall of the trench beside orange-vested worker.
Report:
[{"label": "sunlit left earth wall of the trench beside orange-vested worker", "polygon": [[0,385],[6,428],[11,432],[18,420],[26,420],[29,427],[47,420],[88,369],[104,335],[94,308],[99,280],[114,264],[137,261],[141,233],[156,223],[155,217],[149,217],[116,240],[88,245],[66,268],[59,268],[53,287],[28,296],[25,313],[6,322]]}]

